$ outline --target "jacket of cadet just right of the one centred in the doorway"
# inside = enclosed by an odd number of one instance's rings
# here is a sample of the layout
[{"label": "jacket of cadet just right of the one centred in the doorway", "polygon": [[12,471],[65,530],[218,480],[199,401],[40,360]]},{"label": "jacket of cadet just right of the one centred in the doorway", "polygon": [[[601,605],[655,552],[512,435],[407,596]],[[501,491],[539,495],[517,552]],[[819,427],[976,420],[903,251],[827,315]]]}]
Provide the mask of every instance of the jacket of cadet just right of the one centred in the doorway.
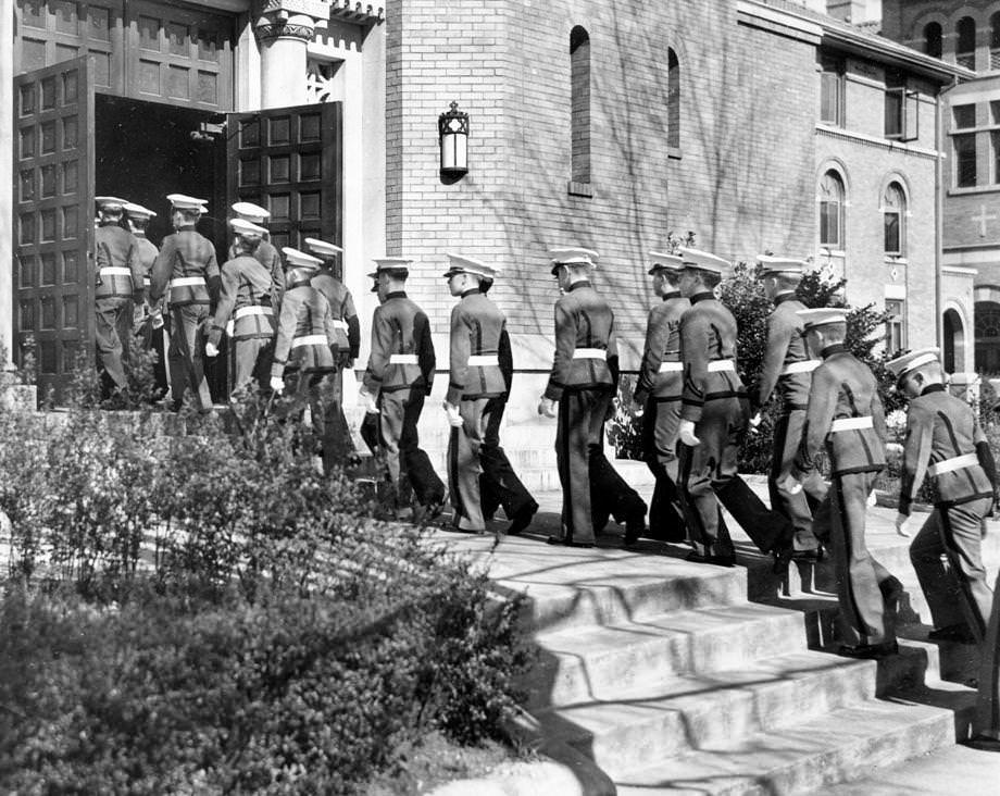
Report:
[{"label": "jacket of cadet just right of the one centred in the doorway", "polygon": [[[239,254],[225,262],[222,266],[218,304],[215,307],[209,343],[213,346],[218,345],[230,318],[234,319],[234,339],[273,337],[276,319],[271,296],[271,274],[254,257]],[[259,314],[260,312],[267,314]]]}]

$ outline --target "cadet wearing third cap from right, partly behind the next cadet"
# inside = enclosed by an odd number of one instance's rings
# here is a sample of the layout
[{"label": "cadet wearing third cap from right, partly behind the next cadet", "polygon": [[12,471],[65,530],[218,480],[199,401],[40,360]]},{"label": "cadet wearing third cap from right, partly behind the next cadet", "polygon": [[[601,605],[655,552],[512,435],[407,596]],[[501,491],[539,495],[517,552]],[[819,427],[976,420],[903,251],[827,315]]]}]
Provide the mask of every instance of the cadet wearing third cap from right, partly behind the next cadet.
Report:
[{"label": "cadet wearing third cap from right, partly behind the next cadet", "polygon": [[805,309],[805,304],[796,298],[805,263],[768,254],[761,254],[757,260],[761,265],[759,277],[767,298],[774,302],[774,311],[767,318],[763,372],[757,388],[750,393],[750,412],[757,415],[753,421],[755,425],[760,422],[761,408],[777,387],[782,413],[774,426],[774,453],[771,472],[767,473],[771,508],[787,517],[795,525],[792,558],[817,561],[823,555],[823,548],[813,534],[812,512],[826,497],[826,483],[817,470],[812,470],[804,474],[803,488],[795,495],[785,488],[802,437],[812,372],[820,365],[820,360],[810,359],[805,350],[802,319],[798,315],[799,310]]}]

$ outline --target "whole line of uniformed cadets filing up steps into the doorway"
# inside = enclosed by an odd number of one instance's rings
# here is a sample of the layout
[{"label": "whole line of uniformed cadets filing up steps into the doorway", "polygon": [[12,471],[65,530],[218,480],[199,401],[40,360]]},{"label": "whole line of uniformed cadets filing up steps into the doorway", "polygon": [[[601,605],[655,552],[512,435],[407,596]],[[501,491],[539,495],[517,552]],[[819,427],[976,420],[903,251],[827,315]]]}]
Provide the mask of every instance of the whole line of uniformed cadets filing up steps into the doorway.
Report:
[{"label": "whole line of uniformed cadets filing up steps into the doorway", "polygon": [[[104,378],[124,385],[121,359],[132,336],[132,302],[145,302],[155,318],[167,295],[175,406],[189,388],[202,408],[209,406],[202,352],[217,356],[225,333],[235,347],[234,387],[255,381],[276,393],[293,391],[311,405],[325,465],[342,462],[351,443],[341,411],[341,374],[358,357],[359,323],[350,294],[323,269],[339,249],[307,239],[317,257],[285,248],[283,269],[262,226],[266,211],[239,203],[229,222],[233,248],[220,270],[214,248],[195,229],[204,202],[168,198],[176,232],[154,259],[152,245],[141,238],[152,211],[114,198],[99,200],[97,345]],[[134,234],[122,228],[123,213]],[[613,517],[625,526],[626,545],[643,535],[686,539],[690,560],[732,567],[735,550],[724,507],[754,545],[774,557],[777,572],[793,559],[818,560],[828,549],[837,571],[841,654],[895,652],[887,617],[902,586],[865,544],[867,506],[886,465],[884,410],[875,376],[845,345],[843,310],[807,309],[796,298],[805,263],[759,258],[774,311],[763,371],[748,393],[737,373],[736,322],[715,297],[729,263],[695,249],[652,252],[649,275],[662,300],[649,313],[634,395],[643,408],[643,453],[655,477],[647,526],[646,503],[603,453],[618,355],[614,312],[591,281],[598,254],[566,248],[549,257],[560,297],[553,364],[538,412],[557,421],[563,493],[560,532],[549,544],[592,547]],[[487,296],[499,269],[460,254],[448,258],[443,277],[459,299],[451,313],[443,402],[450,425],[448,486],[420,447],[417,423],[436,359],[429,319],[407,296],[412,261],[404,258],[378,259],[370,274],[379,306],[359,393],[366,412],[362,436],[383,453],[383,502],[390,510],[413,506],[414,515],[433,519],[450,500],[453,527],[480,533],[502,507],[508,533],[517,534],[530,525],[538,503],[499,440],[513,375],[505,318]],[[1000,748],[1000,588],[990,590],[980,555],[982,528],[996,500],[993,459],[973,410],[945,389],[937,349],[904,355],[888,368],[910,398],[896,527],[909,535],[911,506],[929,478],[935,509],[911,546],[911,558],[937,626],[930,635],[982,645],[977,743]],[[780,406],[768,509],[739,477],[737,453],[773,394]],[[817,467],[821,453],[829,461],[829,486]]]}]

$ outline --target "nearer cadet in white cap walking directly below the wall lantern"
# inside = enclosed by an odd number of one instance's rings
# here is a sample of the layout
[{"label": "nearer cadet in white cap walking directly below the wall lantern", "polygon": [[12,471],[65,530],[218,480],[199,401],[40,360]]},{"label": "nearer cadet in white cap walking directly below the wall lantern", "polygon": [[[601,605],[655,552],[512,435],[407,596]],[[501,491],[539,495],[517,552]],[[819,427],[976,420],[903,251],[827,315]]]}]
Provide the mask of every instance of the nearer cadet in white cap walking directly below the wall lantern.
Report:
[{"label": "nearer cadet in white cap walking directly below the wall lantern", "polygon": [[[452,296],[461,297],[451,310],[450,381],[445,396],[445,412],[452,426],[448,443],[448,483],[454,525],[461,531],[483,533],[479,452],[490,414],[497,409],[495,399],[507,393],[507,382],[500,370],[500,338],[507,319],[500,309],[483,295],[483,281],[490,283],[498,270],[479,260],[461,254],[447,254],[445,278]],[[512,519],[511,528],[521,533],[537,511],[537,503],[523,508],[523,515]]]}]

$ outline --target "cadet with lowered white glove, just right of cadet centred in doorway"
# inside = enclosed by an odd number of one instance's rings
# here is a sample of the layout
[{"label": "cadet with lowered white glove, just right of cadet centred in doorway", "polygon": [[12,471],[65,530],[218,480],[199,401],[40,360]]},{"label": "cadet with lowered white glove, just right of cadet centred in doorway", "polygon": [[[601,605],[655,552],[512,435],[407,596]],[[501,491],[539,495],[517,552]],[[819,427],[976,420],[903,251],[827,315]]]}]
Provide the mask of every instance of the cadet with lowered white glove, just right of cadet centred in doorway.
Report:
[{"label": "cadet with lowered white glove, just right of cadet centred in doorway", "polygon": [[230,220],[229,227],[234,233],[229,250],[236,256],[222,266],[218,303],[204,352],[218,356],[218,344],[232,319],[236,362],[232,393],[236,393],[254,378],[261,388],[267,386],[275,316],[271,274],[253,256],[266,231],[242,219]]}]

